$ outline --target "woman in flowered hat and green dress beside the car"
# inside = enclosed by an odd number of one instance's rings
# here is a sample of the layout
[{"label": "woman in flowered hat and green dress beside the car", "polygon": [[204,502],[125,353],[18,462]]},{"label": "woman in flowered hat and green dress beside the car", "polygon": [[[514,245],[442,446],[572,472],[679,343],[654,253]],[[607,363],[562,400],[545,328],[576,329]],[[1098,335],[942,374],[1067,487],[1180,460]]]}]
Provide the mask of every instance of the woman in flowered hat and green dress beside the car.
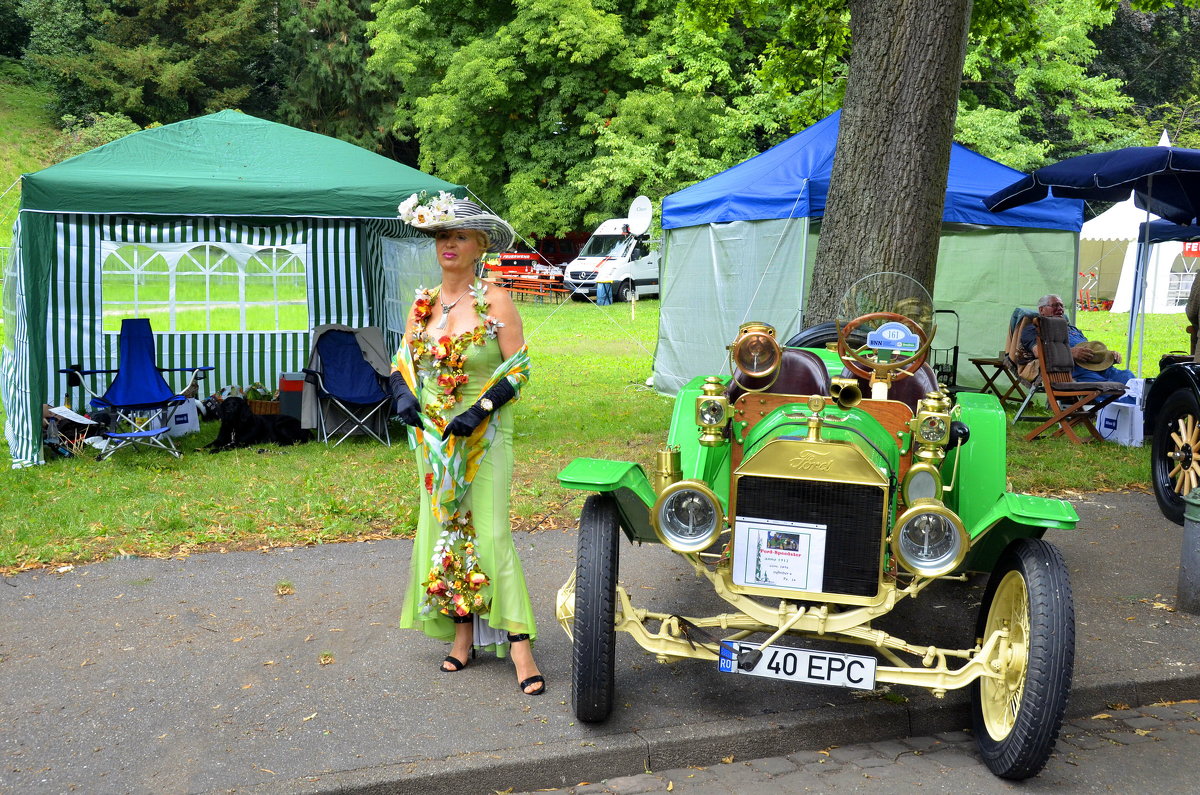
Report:
[{"label": "woman in flowered hat and green dress beside the car", "polygon": [[396,413],[414,428],[421,514],[401,627],[451,641],[442,670],[468,652],[512,654],[518,687],[546,692],[533,659],[533,605],[509,525],[512,407],[529,377],[521,317],[509,294],[478,277],[512,227],[478,204],[412,196],[401,219],[432,234],[442,283],[419,289],[392,361]]}]

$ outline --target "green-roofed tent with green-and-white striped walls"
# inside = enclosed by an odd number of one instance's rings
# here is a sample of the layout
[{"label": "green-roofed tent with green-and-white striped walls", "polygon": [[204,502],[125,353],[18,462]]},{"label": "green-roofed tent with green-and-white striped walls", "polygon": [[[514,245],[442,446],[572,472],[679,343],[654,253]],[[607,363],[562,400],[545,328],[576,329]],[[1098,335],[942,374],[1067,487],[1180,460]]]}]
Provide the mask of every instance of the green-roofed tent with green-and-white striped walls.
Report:
[{"label": "green-roofed tent with green-and-white striped walls", "polygon": [[[398,345],[428,238],[414,192],[462,190],[359,147],[234,110],[138,132],[25,174],[4,282],[0,400],[14,467],[42,462],[42,405],[80,405],[59,370],[116,366],[149,317],[160,366],[272,384],[326,323]],[[96,376],[103,390],[108,381]],[[185,384],[173,383],[176,389]]]}]

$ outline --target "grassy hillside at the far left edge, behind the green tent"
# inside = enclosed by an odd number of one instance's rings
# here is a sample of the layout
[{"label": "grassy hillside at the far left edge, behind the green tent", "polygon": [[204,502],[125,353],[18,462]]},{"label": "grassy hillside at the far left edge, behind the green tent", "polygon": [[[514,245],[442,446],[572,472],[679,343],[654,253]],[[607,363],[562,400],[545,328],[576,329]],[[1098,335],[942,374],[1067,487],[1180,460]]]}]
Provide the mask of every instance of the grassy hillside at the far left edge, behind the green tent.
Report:
[{"label": "grassy hillside at the far left edge, behind the green tent", "polygon": [[0,247],[7,247],[12,237],[19,201],[19,186],[13,183],[49,165],[48,154],[58,139],[48,101],[44,91],[29,84],[19,65],[0,59]]}]

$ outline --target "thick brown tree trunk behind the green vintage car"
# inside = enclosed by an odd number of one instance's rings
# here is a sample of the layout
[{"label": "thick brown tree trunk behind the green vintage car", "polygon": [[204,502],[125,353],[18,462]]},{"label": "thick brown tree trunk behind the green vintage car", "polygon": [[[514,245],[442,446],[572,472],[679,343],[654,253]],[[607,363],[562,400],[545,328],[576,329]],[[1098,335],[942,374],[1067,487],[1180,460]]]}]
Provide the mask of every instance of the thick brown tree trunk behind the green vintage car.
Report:
[{"label": "thick brown tree trunk behind the green vintage car", "polygon": [[804,323],[866,274],[932,294],[972,0],[851,0],[851,56]]}]

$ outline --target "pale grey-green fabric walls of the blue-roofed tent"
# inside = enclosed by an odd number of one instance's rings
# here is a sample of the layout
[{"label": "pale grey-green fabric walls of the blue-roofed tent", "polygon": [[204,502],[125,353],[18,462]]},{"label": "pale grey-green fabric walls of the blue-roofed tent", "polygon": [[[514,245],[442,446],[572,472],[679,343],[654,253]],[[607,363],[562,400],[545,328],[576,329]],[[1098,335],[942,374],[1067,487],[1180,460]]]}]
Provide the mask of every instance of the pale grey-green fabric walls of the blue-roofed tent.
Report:
[{"label": "pale grey-green fabric walls of the blue-roofed tent", "polygon": [[[725,346],[744,319],[774,324],[780,342],[800,330],[818,232],[805,219],[667,229],[654,388],[672,395],[697,375],[727,373]],[[970,359],[1003,348],[1014,306],[1075,294],[1078,249],[1075,232],[943,225],[934,303],[959,315],[960,385],[982,383]],[[940,321],[935,347],[950,348],[952,319]]]}]

